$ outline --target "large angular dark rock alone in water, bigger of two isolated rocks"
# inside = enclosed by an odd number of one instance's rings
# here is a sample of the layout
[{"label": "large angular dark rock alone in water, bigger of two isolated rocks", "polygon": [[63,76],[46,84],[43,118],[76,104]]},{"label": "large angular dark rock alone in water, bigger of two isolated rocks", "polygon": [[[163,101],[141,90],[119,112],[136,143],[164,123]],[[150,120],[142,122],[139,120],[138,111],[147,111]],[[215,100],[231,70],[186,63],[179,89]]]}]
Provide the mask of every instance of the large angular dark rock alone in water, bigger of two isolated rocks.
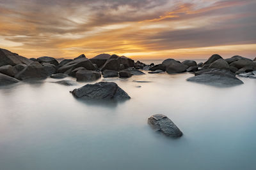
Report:
[{"label": "large angular dark rock alone in water, bigger of two isolated rocks", "polygon": [[125,100],[131,97],[114,82],[101,81],[95,84],[87,84],[79,89],[74,89],[72,94],[83,99],[115,99]]}]

